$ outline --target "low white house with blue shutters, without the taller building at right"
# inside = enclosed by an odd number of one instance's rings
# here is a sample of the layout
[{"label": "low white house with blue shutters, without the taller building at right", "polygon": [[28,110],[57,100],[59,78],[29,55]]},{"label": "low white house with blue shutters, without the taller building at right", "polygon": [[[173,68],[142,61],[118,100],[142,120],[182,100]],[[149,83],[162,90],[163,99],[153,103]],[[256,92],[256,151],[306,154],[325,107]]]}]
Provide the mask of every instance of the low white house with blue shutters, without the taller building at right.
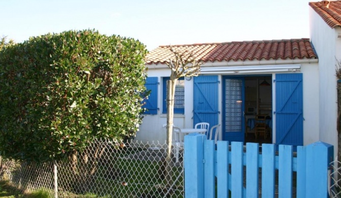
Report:
[{"label": "low white house with blue shutters, without the taller building at right", "polygon": [[[262,113],[272,118],[273,143],[303,145],[319,139],[318,113],[308,108],[319,105],[318,59],[309,39],[174,47],[193,51],[205,62],[200,76],[178,82],[175,125],[221,124],[224,140],[244,141],[245,117]],[[165,61],[170,57],[166,46],[147,56],[146,86],[155,95],[147,103],[138,140],[165,140],[161,127],[166,123],[165,82],[170,71]],[[263,81],[269,86],[261,86]]]}]

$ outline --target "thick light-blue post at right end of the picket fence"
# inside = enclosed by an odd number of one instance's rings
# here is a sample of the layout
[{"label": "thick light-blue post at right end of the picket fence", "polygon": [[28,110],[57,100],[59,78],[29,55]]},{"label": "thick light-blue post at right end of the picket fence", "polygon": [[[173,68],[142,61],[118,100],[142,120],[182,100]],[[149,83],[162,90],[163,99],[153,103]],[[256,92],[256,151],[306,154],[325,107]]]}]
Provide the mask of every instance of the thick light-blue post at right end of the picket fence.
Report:
[{"label": "thick light-blue post at right end of the picket fence", "polygon": [[328,197],[328,167],[333,146],[316,142],[306,146],[305,197]]}]

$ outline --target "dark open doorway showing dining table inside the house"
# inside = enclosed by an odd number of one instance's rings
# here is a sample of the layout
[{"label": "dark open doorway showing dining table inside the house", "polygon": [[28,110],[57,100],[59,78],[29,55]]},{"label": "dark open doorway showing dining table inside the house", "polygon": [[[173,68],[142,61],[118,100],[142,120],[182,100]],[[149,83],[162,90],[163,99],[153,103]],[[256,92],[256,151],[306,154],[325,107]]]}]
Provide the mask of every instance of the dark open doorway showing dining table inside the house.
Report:
[{"label": "dark open doorway showing dining table inside the house", "polygon": [[[272,143],[272,77],[244,77],[244,90],[244,143]],[[260,127],[260,122],[264,122],[265,126]],[[265,133],[260,133],[262,130]]]}]

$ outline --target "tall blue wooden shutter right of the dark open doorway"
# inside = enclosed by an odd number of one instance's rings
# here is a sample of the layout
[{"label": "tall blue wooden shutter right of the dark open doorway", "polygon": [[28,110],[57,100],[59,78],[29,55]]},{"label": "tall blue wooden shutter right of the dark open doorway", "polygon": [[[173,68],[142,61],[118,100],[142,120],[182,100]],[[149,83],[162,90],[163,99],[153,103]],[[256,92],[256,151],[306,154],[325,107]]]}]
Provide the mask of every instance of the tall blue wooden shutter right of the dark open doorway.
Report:
[{"label": "tall blue wooden shutter right of the dark open doorway", "polygon": [[276,74],[276,144],[303,145],[302,74]]}]

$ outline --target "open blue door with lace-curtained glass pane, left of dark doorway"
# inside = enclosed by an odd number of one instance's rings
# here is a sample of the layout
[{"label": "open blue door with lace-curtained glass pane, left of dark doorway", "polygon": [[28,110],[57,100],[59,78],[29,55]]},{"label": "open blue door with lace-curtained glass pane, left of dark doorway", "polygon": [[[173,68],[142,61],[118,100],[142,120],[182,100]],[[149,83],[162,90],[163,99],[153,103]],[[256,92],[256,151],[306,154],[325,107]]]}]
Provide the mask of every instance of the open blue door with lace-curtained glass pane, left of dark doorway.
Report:
[{"label": "open blue door with lace-curtained glass pane, left of dark doorway", "polygon": [[223,77],[223,140],[244,142],[244,78]]}]

